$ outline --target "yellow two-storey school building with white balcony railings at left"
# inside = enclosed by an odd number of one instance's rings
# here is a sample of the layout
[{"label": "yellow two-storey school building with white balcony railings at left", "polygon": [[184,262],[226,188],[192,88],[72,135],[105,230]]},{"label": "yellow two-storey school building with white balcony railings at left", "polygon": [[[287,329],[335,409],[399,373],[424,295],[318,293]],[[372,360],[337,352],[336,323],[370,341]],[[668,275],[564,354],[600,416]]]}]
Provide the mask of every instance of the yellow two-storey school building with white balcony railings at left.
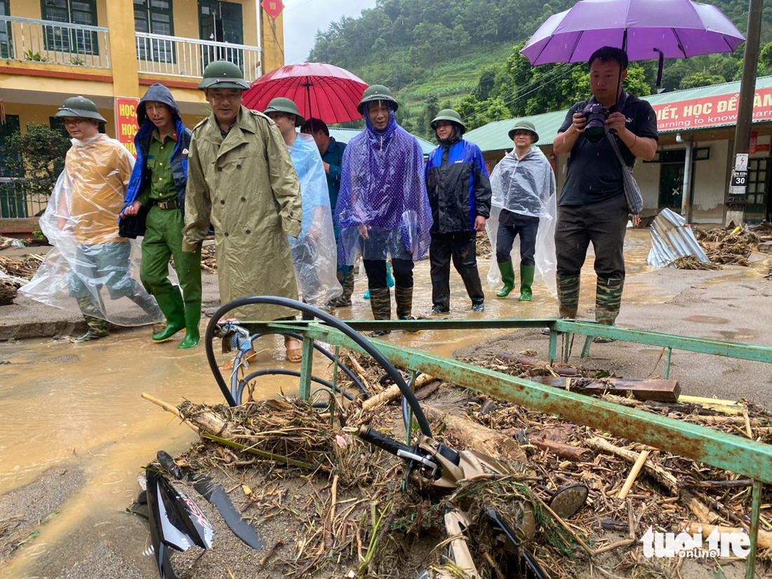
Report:
[{"label": "yellow two-storey school building with white balcony railings at left", "polygon": [[[29,122],[63,130],[53,115],[76,95],[97,103],[110,137],[130,141],[121,134],[130,125],[117,130],[116,103],[126,99],[123,112],[133,113],[153,83],[169,87],[192,127],[208,114],[196,86],[212,60],[238,64],[248,82],[284,65],[282,8],[280,0],[0,0],[0,142]],[[39,203],[0,203],[0,217],[35,215]]]}]

